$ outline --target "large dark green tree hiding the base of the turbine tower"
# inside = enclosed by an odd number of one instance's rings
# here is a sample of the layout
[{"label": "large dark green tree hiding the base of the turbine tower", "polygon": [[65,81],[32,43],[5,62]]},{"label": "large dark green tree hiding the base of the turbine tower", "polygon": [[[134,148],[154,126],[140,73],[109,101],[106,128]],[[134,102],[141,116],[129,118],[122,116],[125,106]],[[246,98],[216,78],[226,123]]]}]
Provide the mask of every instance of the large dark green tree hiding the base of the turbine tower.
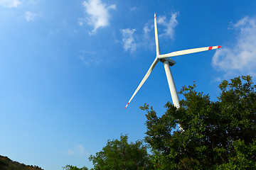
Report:
[{"label": "large dark green tree hiding the base of the turbine tower", "polygon": [[181,108],[166,103],[161,116],[147,104],[141,107],[156,169],[255,169],[256,86],[242,76],[219,88],[218,101],[210,101],[195,84],[183,86]]}]

